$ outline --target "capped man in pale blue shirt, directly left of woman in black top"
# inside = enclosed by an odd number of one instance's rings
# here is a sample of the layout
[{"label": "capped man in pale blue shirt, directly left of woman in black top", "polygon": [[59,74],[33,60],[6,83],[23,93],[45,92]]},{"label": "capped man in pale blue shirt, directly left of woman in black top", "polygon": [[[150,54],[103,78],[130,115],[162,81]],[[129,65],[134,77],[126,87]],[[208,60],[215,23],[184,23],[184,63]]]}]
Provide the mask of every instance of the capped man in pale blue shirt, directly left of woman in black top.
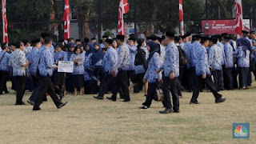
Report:
[{"label": "capped man in pale blue shirt, directly left of woman in black top", "polygon": [[120,88],[122,88],[124,93],[123,102],[130,102],[130,93],[127,82],[127,70],[130,64],[130,50],[125,42],[124,35],[118,35],[118,64],[112,71],[114,77],[117,77],[116,89],[114,90],[114,94],[112,97],[108,98],[111,101],[117,100],[117,94]]}]

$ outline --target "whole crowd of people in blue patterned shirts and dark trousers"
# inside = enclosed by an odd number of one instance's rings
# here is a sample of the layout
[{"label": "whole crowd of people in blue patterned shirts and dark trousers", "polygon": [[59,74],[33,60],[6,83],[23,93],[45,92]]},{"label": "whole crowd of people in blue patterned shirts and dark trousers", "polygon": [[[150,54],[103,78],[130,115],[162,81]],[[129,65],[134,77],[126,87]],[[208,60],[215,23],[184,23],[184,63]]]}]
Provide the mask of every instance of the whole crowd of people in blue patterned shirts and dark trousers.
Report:
[{"label": "whole crowd of people in blue patterned shirts and dark trousers", "polygon": [[[143,38],[124,35],[101,42],[95,38],[53,42],[51,34],[31,42],[2,43],[0,52],[0,94],[9,93],[6,82],[16,91],[16,105],[25,90],[33,91],[27,100],[33,110],[41,110],[49,94],[57,108],[65,106],[62,98],[74,95],[98,94],[104,99],[111,93],[116,101],[119,93],[123,102],[130,102],[130,90],[143,90],[146,101],[140,109],[149,109],[162,90],[165,110],[160,114],[179,113],[182,91],[192,92],[190,104],[198,104],[199,92],[206,89],[214,94],[215,102],[225,102],[221,90],[246,90],[256,71],[256,34],[243,31],[236,41],[232,35],[205,36],[186,34],[175,36],[166,32],[162,37]],[[74,62],[72,74],[58,72],[59,61]],[[171,94],[171,96],[170,96]]]}]

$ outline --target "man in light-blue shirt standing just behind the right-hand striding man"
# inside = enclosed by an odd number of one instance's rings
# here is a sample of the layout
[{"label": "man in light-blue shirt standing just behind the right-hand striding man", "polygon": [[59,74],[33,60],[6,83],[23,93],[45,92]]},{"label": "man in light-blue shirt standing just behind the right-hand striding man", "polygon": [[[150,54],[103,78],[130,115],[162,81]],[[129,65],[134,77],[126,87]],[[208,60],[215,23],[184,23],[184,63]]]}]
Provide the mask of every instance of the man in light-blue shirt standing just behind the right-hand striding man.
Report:
[{"label": "man in light-blue shirt standing just behind the right-hand striding man", "polygon": [[222,77],[222,49],[217,46],[218,39],[211,38],[210,40],[210,48],[208,50],[208,61],[210,70],[214,76],[214,84],[217,91],[224,89],[223,77]]}]

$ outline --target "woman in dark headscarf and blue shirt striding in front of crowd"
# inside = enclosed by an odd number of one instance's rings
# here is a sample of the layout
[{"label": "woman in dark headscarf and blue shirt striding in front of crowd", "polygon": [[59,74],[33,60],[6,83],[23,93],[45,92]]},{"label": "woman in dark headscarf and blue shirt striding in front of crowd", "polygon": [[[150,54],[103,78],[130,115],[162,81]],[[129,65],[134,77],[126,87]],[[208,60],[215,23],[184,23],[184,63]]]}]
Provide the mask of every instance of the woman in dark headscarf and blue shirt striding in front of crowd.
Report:
[{"label": "woman in dark headscarf and blue shirt striding in front of crowd", "polygon": [[151,102],[154,99],[154,96],[157,94],[158,84],[161,81],[162,74],[156,74],[156,71],[162,66],[162,59],[160,57],[160,47],[156,42],[148,42],[147,50],[149,50],[150,55],[147,59],[148,69],[143,78],[143,82],[148,82],[149,88],[147,90],[146,102],[142,103],[140,109],[150,108]]}]

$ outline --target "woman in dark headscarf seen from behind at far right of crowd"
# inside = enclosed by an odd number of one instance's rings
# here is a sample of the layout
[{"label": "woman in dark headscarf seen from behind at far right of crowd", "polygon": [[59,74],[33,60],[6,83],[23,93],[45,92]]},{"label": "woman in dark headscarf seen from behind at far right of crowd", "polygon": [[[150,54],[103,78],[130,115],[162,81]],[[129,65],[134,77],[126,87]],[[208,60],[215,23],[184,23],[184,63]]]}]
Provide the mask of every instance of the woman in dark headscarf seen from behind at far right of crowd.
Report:
[{"label": "woman in dark headscarf seen from behind at far right of crowd", "polygon": [[245,90],[249,86],[250,42],[248,43],[246,38],[240,38],[237,40],[237,44],[239,88]]}]

